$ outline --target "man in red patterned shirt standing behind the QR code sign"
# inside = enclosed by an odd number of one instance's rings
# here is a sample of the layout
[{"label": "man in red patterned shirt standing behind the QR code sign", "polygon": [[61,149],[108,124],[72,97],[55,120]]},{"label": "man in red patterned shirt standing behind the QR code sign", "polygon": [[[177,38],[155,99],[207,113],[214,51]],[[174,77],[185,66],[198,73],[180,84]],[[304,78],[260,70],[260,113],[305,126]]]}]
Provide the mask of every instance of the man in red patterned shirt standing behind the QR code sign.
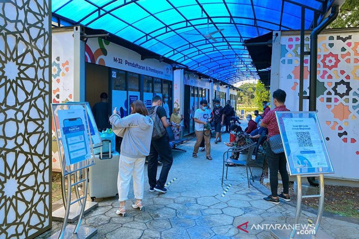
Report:
[{"label": "man in red patterned shirt standing behind the QR code sign", "polygon": [[[275,109],[269,111],[262,119],[261,126],[268,128],[268,139],[274,135],[278,135],[279,127],[275,116],[275,111],[289,111],[285,105],[286,93],[284,90],[278,89],[273,92],[273,103]],[[265,101],[263,101],[264,104]],[[285,153],[274,153],[271,149],[270,143],[267,144],[266,158],[268,160],[269,172],[270,172],[270,188],[271,195],[264,198],[265,201],[274,204],[279,204],[279,198],[290,201],[289,197],[289,176],[287,172],[287,163]],[[278,194],[278,171],[283,182],[283,192]]]}]

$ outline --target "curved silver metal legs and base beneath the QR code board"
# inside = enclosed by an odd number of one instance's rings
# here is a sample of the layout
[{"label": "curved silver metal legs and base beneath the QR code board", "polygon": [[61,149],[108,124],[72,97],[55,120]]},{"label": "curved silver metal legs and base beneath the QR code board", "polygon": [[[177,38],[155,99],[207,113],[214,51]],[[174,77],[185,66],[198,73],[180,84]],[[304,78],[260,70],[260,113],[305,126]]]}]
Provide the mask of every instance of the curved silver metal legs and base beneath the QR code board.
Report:
[{"label": "curved silver metal legs and base beneath the QR code board", "polygon": [[[319,176],[319,194],[317,195],[302,195],[302,177],[318,177]],[[311,234],[301,234],[298,230],[295,228],[293,230],[271,230],[271,235],[276,239],[282,239],[282,238],[311,238],[311,239],[319,239],[319,238],[326,238],[330,239],[331,236],[324,233],[322,230],[320,230],[319,225],[320,221],[322,219],[323,215],[323,209],[324,209],[324,176],[323,174],[319,175],[297,175],[297,183],[298,183],[298,191],[297,191],[297,211],[295,212],[295,219],[294,219],[294,225],[299,224],[299,218],[300,213],[302,211],[302,199],[308,198],[308,197],[319,197],[319,204],[318,204],[318,214],[317,214],[317,220],[315,222],[315,229],[314,232]],[[288,236],[289,235],[289,236]]]}]

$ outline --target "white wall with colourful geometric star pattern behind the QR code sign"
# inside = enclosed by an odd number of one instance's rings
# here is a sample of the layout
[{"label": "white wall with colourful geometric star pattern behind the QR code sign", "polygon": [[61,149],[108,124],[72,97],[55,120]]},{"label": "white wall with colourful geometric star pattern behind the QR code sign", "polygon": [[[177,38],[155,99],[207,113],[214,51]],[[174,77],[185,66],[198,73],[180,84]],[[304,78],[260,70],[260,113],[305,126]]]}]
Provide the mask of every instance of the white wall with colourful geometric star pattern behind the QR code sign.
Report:
[{"label": "white wall with colourful geometric star pattern behind the QR code sign", "polygon": [[[286,105],[298,110],[298,35],[280,40],[279,87]],[[305,50],[309,51],[309,36]],[[359,32],[325,33],[318,37],[317,109],[337,178],[358,179],[359,164]],[[304,57],[304,95],[309,95],[309,56]],[[308,110],[308,100],[304,100]],[[330,175],[332,176],[332,175]]]}]

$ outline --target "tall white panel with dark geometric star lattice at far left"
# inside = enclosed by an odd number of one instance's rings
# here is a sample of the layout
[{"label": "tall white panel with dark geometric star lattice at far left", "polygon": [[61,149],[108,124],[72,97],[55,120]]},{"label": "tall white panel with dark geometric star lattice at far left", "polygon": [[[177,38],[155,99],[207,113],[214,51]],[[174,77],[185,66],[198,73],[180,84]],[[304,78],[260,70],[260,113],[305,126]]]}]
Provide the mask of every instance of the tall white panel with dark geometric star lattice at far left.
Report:
[{"label": "tall white panel with dark geometric star lattice at far left", "polygon": [[48,0],[0,3],[0,238],[51,223]]}]

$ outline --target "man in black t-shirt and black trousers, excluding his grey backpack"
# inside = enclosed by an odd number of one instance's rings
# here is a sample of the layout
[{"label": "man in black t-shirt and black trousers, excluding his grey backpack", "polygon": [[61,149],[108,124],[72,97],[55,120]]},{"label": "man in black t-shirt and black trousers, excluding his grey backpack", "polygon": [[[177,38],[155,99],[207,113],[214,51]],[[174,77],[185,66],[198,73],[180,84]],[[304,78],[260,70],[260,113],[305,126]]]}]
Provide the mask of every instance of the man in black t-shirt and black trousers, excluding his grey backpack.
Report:
[{"label": "man in black t-shirt and black trousers, excluding his grey backpack", "polygon": [[[156,114],[161,119],[160,124],[162,123],[164,128],[169,126],[167,122],[166,110],[162,107],[162,99],[160,96],[156,95],[152,98],[152,107],[150,108],[150,113],[157,107]],[[155,122],[154,122],[155,123]],[[158,156],[161,157],[163,163],[161,173],[158,180],[157,176],[157,166],[158,166]],[[167,189],[164,187],[164,184],[167,181],[169,169],[171,169],[173,163],[172,149],[169,146],[168,135],[165,134],[159,139],[151,140],[150,155],[148,156],[148,165],[147,165],[147,174],[148,174],[148,183],[150,185],[150,192],[167,192]]]}]

